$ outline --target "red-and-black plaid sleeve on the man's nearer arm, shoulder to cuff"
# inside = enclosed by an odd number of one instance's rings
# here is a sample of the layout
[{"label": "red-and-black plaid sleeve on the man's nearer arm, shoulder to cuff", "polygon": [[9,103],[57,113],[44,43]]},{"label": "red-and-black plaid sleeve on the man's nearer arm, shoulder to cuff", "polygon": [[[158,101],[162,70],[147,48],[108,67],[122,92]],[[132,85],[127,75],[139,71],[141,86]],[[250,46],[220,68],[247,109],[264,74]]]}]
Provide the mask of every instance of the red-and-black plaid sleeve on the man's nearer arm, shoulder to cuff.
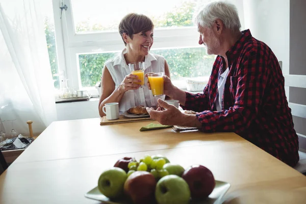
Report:
[{"label": "red-and-black plaid sleeve on the man's nearer arm, shoulder to cuff", "polygon": [[237,76],[233,77],[233,81],[237,82],[233,107],[220,112],[203,111],[196,114],[202,123],[202,131],[242,132],[249,127],[258,114],[270,71],[267,60],[262,58],[259,51],[253,51],[239,65]]}]

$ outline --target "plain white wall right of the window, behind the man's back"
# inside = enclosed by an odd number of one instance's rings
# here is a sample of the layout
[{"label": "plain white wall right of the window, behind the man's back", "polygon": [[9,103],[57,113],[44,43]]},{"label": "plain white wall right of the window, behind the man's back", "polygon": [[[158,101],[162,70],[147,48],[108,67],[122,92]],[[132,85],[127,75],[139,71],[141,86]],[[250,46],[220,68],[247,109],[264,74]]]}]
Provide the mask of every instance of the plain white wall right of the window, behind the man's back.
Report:
[{"label": "plain white wall right of the window, behind the man's back", "polygon": [[244,0],[244,27],[265,42],[289,74],[289,0]]}]

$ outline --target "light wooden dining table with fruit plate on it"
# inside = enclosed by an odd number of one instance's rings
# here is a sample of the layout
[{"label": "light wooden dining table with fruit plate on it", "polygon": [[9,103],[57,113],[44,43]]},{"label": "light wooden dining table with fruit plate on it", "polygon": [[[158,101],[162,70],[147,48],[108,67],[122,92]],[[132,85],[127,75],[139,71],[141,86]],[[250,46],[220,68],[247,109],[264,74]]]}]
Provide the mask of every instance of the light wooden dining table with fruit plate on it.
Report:
[{"label": "light wooden dining table with fruit plate on it", "polygon": [[[243,189],[306,195],[306,176],[235,133],[167,129],[157,121],[99,125],[100,118],[56,121],[0,176],[0,203],[99,203],[84,197],[100,173],[122,157],[164,155],[183,167],[201,164],[216,180]],[[225,196],[226,196],[225,195]]]}]

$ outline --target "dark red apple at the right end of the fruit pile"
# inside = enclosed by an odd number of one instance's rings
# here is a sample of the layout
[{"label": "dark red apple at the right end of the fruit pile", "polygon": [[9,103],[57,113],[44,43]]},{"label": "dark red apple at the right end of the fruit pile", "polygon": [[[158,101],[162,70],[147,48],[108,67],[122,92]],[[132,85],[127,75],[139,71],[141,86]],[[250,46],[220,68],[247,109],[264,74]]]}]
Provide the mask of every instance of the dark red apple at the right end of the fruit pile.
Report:
[{"label": "dark red apple at the right end of the fruit pile", "polygon": [[215,188],[213,173],[201,165],[192,165],[187,168],[182,178],[187,182],[192,198],[206,198]]}]

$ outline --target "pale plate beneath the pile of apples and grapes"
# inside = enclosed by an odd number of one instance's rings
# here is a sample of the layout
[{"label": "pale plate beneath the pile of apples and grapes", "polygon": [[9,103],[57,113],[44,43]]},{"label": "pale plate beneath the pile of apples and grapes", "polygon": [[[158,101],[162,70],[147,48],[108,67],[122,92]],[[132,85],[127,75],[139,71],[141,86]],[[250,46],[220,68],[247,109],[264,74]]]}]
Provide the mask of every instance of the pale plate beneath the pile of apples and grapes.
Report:
[{"label": "pale plate beneath the pile of apples and grapes", "polygon": [[[190,204],[217,204],[221,203],[221,199],[223,195],[230,189],[231,184],[226,182],[221,182],[216,180],[216,186],[213,192],[209,195],[207,199],[204,200],[191,200]],[[89,192],[85,194],[85,197],[102,201],[106,204],[131,204],[131,202],[127,201],[127,199],[121,198],[118,200],[111,200],[110,198],[106,197],[102,193],[100,193],[98,187],[91,189]]]}]

